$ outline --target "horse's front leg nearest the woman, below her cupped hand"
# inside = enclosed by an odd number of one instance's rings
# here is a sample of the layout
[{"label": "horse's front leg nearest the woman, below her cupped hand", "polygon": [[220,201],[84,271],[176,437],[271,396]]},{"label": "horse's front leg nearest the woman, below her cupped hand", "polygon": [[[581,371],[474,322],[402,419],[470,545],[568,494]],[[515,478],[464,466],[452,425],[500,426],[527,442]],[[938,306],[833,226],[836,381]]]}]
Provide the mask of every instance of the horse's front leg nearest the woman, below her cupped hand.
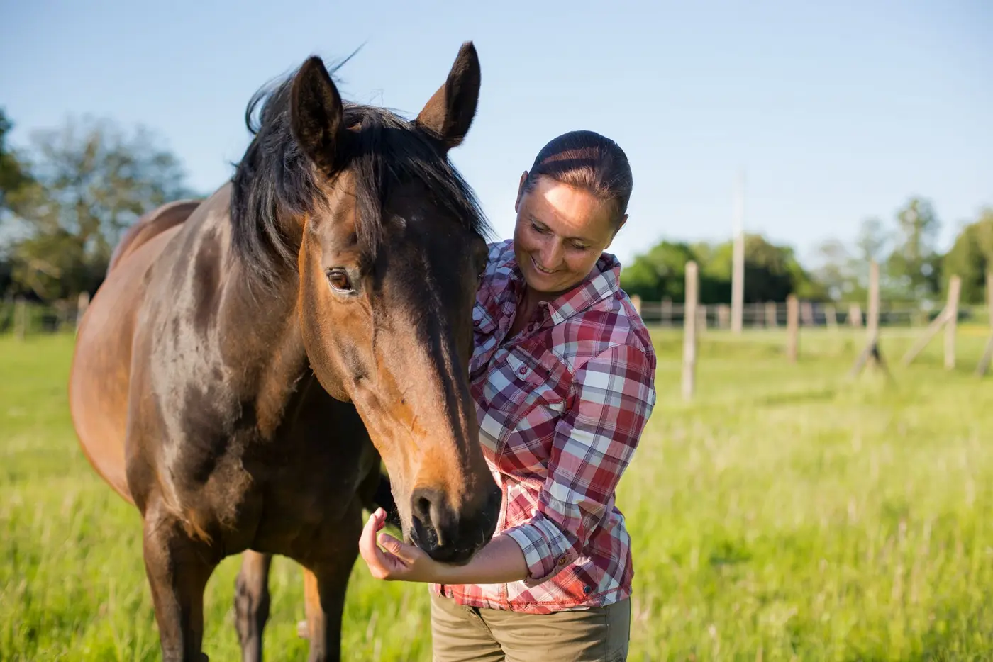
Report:
[{"label": "horse's front leg nearest the woman, below her cupped hand", "polygon": [[324,548],[320,557],[301,562],[304,566],[307,638],[310,639],[309,662],[342,659],[345,593],[358,558],[361,524],[361,511],[355,508],[336,530],[336,544]]}]

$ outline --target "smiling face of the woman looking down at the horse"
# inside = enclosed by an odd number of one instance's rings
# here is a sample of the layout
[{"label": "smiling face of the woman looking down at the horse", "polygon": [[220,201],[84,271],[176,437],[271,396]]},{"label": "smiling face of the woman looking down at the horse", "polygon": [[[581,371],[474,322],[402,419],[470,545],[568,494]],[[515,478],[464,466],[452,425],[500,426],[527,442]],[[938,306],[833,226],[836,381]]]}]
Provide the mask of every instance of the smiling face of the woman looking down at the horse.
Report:
[{"label": "smiling face of the woman looking down at the horse", "polygon": [[529,288],[560,294],[586,278],[628,215],[615,227],[613,205],[589,191],[539,177],[525,192],[526,179],[514,204],[514,256]]}]

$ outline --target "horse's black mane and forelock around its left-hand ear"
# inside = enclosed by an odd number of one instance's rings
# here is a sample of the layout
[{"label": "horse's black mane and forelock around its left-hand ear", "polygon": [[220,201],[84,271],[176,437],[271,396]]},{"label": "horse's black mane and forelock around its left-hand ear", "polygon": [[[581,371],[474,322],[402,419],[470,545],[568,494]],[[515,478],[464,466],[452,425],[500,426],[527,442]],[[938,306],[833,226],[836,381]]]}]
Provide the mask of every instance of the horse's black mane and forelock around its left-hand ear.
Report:
[{"label": "horse's black mane and forelock around its left-hand ear", "polygon": [[[331,69],[333,71],[333,69]],[[264,283],[285,268],[296,268],[297,255],[280,218],[312,213],[325,202],[321,181],[290,130],[291,73],[275,86],[259,89],[245,110],[254,138],[231,179],[231,239],[235,254]],[[252,115],[261,104],[258,119]],[[464,226],[485,236],[489,225],[470,186],[432,139],[414,123],[375,106],[345,103],[350,132],[343,170],[355,176],[356,231],[364,251],[374,255],[383,237],[382,209],[394,188],[423,182],[434,203]]]}]

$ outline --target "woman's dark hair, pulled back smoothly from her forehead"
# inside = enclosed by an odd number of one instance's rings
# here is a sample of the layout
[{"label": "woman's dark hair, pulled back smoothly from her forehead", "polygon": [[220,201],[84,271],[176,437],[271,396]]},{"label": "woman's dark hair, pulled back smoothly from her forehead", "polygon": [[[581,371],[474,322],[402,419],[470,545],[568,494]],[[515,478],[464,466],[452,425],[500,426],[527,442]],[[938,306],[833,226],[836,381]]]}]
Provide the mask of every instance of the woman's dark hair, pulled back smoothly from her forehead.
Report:
[{"label": "woman's dark hair, pulled back smoothly from her forehead", "polygon": [[621,147],[595,131],[570,131],[541,148],[524,182],[531,191],[538,178],[585,189],[614,205],[615,225],[628,211],[633,186],[628,155]]}]

